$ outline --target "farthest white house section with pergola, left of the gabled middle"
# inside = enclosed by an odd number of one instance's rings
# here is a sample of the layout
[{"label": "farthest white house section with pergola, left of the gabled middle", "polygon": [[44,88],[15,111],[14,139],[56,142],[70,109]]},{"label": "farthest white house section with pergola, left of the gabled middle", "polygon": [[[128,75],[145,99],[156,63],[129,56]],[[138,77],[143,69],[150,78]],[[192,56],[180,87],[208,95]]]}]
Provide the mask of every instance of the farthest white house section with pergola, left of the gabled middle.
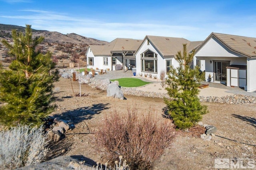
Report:
[{"label": "farthest white house section with pergola, left of the gabled middle", "polygon": [[120,70],[135,66],[133,55],[141,43],[138,39],[117,38],[106,45],[89,45],[87,68]]}]

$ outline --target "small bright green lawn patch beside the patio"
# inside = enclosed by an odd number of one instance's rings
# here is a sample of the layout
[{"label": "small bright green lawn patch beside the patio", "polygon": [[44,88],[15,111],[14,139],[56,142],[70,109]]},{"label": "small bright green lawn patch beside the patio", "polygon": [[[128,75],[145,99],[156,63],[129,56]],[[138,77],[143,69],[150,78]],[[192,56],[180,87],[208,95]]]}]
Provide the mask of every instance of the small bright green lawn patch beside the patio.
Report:
[{"label": "small bright green lawn patch beside the patio", "polygon": [[117,80],[119,82],[119,86],[122,87],[139,87],[150,83],[144,82],[138,78],[118,78],[110,81],[114,82],[115,80]]}]

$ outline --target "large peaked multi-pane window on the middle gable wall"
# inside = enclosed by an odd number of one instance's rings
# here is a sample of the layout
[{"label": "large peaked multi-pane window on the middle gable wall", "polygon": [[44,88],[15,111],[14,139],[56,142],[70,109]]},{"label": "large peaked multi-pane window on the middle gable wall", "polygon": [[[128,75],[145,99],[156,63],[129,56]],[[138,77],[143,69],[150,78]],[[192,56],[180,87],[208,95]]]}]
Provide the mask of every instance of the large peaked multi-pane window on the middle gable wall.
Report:
[{"label": "large peaked multi-pane window on the middle gable wall", "polygon": [[157,73],[157,54],[147,50],[141,54],[141,70]]}]

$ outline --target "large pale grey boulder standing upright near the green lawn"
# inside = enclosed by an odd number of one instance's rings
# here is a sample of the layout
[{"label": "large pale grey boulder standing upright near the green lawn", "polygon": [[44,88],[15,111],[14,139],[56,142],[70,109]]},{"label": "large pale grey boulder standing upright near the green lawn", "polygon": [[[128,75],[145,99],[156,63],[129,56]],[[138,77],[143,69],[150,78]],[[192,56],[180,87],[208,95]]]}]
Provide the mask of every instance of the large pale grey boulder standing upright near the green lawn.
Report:
[{"label": "large pale grey boulder standing upright near the green lawn", "polygon": [[118,81],[108,84],[107,86],[107,97],[113,97],[118,99],[124,99],[124,93],[118,86]]}]

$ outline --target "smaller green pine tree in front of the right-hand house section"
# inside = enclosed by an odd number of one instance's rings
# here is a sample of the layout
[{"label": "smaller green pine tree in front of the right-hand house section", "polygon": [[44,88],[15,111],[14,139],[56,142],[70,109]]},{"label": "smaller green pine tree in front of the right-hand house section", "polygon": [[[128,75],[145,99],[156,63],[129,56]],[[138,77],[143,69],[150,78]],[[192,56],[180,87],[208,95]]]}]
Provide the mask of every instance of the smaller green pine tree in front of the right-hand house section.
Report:
[{"label": "smaller green pine tree in front of the right-hand house section", "polygon": [[178,61],[179,66],[173,66],[168,73],[166,83],[168,87],[169,99],[164,99],[177,128],[186,129],[192,127],[196,122],[202,119],[202,115],[207,113],[207,107],[200,104],[198,94],[198,82],[203,80],[204,75],[200,73],[199,68],[190,68],[193,61],[194,51],[187,54],[186,44],[181,51],[176,54],[174,59]]}]

